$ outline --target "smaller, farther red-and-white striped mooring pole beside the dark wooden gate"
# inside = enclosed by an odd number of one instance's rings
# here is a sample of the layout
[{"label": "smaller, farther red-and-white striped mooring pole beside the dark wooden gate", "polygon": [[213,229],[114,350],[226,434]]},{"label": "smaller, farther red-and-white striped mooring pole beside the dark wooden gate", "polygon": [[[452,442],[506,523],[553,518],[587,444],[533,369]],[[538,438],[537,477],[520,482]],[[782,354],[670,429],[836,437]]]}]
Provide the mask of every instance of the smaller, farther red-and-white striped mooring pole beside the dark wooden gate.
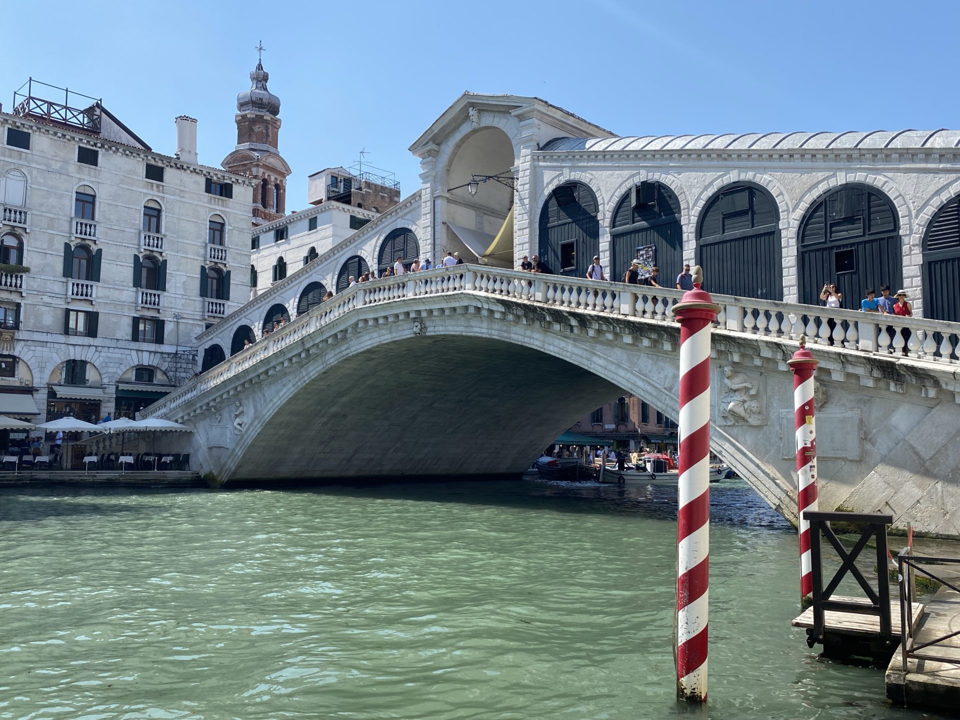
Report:
[{"label": "smaller, farther red-and-white striped mooring pole beside the dark wooden gate", "polygon": [[817,426],[814,422],[813,373],[817,361],[800,336],[800,349],[786,361],[793,371],[793,414],[797,449],[797,529],[800,533],[800,601],[813,592],[810,567],[810,523],[805,510],[817,509]]}]

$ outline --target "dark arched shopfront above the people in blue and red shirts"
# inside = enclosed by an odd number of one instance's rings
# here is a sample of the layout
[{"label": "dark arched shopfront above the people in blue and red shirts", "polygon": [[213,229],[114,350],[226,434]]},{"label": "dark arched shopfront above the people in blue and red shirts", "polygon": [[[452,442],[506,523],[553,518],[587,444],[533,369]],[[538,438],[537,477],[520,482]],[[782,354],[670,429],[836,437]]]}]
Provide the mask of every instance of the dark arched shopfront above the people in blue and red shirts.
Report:
[{"label": "dark arched shopfront above the people in blue and red shirts", "polygon": [[844,306],[859,309],[868,287],[902,284],[897,210],[868,185],[846,184],[823,195],[800,226],[798,295],[820,304],[824,284],[836,283]]}]

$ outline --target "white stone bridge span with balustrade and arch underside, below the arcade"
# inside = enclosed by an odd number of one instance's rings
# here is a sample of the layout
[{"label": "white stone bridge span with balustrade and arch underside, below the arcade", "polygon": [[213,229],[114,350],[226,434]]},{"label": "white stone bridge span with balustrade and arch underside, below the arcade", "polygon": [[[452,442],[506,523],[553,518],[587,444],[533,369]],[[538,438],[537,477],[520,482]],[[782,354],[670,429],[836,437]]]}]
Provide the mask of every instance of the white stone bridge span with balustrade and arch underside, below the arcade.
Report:
[{"label": "white stone bridge span with balustrade and arch underside, below the arcade", "polygon": [[[183,451],[228,481],[519,473],[623,391],[677,417],[680,296],[470,265],[375,280],[140,417],[194,426]],[[806,334],[821,507],[960,535],[960,324],[714,300],[711,445],[756,492],[796,519],[786,360]]]}]

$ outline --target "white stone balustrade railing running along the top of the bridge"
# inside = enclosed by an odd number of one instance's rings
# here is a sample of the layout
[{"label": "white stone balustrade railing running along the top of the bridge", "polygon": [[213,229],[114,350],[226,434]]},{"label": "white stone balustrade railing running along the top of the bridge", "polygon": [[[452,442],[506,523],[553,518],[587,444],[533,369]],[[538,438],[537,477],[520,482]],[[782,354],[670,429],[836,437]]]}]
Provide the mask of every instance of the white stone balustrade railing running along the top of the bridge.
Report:
[{"label": "white stone balustrade railing running along the top of the bridge", "polygon": [[[451,293],[499,296],[566,311],[617,315],[643,322],[675,324],[673,306],[683,291],[586,278],[531,275],[516,270],[460,265],[357,284],[292,323],[204,372],[139,414],[166,417],[206,391],[245,372],[355,308]],[[775,300],[713,296],[721,305],[716,326],[735,334],[799,340],[862,353],[894,354],[921,364],[960,365],[960,324],[876,315],[854,310]],[[902,355],[901,355],[902,353]],[[935,368],[934,368],[935,369]],[[946,368],[944,368],[946,370]],[[960,401],[960,400],[958,400]]]}]

